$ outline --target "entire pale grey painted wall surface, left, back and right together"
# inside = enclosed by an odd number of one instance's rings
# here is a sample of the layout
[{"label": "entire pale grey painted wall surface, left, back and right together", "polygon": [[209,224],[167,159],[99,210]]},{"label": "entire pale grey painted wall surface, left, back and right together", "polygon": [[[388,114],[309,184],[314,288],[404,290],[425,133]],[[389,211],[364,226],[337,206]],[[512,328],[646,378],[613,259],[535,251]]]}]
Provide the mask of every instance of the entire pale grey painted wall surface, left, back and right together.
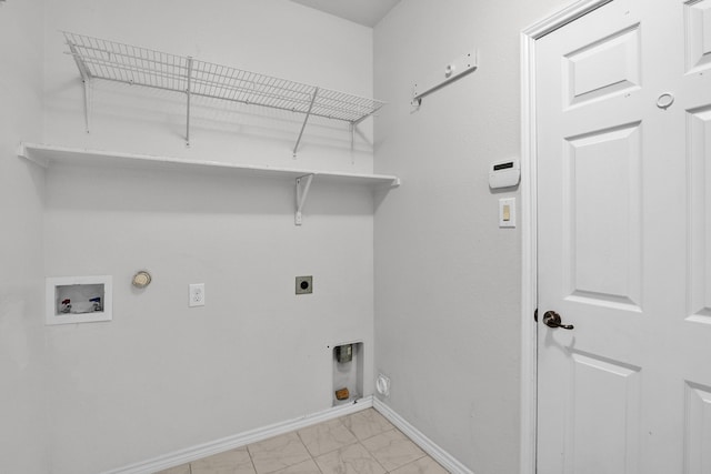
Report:
[{"label": "entire pale grey painted wall surface, left, back and right together", "polygon": [[[93,473],[324,410],[327,345],[352,340],[365,343],[365,394],[384,373],[383,401],[474,473],[517,472],[521,238],[497,216],[518,190],[492,192],[487,172],[520,153],[520,31],[565,2],[404,0],[374,30],[287,1],[210,3],[0,3],[0,472]],[[58,30],[389,104],[352,151],[346,130],[316,120],[294,161],[288,113],[202,103],[188,149],[182,99],[96,84],[87,134]],[[477,71],[411,107],[415,81],[472,48]],[[374,167],[403,184],[373,203],[314,183],[294,228],[292,185],[41,170],[16,157],[20,141]],[[142,268],[154,281],[137,292]],[[88,274],[113,275],[114,320],[46,327],[44,276]],[[312,297],[294,299],[299,274],[314,275]],[[187,307],[189,283],[206,283],[206,307]]]}]

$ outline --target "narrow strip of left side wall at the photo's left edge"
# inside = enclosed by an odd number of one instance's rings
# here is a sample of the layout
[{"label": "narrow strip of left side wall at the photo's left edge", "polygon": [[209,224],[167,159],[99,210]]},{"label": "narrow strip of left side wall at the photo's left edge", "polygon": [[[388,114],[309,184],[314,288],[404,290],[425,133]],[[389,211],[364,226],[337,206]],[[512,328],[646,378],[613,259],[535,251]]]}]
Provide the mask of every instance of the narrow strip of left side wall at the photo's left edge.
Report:
[{"label": "narrow strip of left side wall at the photo's left edge", "polygon": [[0,472],[44,474],[43,177],[17,158],[42,124],[39,0],[0,3]]}]

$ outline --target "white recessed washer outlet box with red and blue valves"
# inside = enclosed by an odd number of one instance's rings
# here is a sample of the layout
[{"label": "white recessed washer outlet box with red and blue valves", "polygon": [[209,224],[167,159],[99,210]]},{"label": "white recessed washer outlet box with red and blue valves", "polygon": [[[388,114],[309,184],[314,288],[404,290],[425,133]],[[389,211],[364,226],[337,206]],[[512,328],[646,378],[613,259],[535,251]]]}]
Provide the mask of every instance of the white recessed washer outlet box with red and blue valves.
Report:
[{"label": "white recessed washer outlet box with red and blue valves", "polygon": [[48,276],[44,323],[111,321],[112,293],[110,275]]}]

